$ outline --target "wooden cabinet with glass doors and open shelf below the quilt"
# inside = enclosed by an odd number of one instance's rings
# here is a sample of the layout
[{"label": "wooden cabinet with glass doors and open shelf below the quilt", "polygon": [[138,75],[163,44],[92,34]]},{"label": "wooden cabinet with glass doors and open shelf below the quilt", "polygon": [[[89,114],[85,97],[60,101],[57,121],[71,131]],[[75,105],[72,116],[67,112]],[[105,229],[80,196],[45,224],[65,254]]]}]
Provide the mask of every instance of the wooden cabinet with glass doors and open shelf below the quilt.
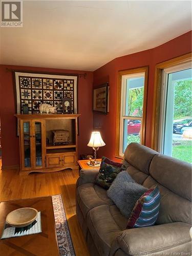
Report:
[{"label": "wooden cabinet with glass doors and open shelf below the quilt", "polygon": [[[77,118],[79,115],[16,115],[19,124],[20,174],[78,169]],[[69,130],[68,144],[54,145],[53,130]],[[47,144],[46,144],[47,141]]]}]

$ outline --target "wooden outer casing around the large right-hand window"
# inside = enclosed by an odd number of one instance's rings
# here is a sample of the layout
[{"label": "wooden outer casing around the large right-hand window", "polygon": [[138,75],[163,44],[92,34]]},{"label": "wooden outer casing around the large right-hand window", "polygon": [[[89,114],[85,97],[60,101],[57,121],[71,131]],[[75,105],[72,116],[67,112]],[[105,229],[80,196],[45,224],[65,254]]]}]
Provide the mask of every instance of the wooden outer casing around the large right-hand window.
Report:
[{"label": "wooden outer casing around the large right-hand window", "polygon": [[153,97],[153,118],[152,118],[152,140],[151,148],[153,150],[160,150],[159,137],[160,137],[160,122],[162,118],[160,117],[161,113],[161,99],[162,99],[162,89],[163,89],[163,70],[168,70],[174,66],[183,65],[184,63],[190,62],[192,60],[191,53],[173,58],[161,63],[158,63],[155,67],[155,82],[154,82],[154,97]]}]

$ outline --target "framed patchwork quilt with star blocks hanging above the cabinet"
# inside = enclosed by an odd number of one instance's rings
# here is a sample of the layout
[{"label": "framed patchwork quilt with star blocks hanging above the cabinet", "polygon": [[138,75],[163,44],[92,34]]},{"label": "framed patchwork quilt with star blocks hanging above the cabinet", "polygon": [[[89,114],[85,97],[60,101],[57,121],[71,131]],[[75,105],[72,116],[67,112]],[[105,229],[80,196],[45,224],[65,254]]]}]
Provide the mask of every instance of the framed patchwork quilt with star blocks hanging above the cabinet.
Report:
[{"label": "framed patchwork quilt with star blocks hanging above the cabinet", "polygon": [[77,75],[51,75],[14,72],[17,114],[28,106],[29,114],[39,113],[39,105],[47,103],[63,113],[63,99],[71,101],[71,112],[77,113]]}]

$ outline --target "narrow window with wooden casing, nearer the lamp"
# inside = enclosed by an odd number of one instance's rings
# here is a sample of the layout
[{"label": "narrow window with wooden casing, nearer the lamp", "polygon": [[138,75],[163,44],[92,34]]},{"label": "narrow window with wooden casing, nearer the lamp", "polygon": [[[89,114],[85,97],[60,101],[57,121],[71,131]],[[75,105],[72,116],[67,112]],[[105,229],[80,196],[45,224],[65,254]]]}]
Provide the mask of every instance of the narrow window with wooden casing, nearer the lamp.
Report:
[{"label": "narrow window with wooden casing, nearer the lamp", "polygon": [[119,72],[116,156],[131,142],[144,144],[147,68]]}]

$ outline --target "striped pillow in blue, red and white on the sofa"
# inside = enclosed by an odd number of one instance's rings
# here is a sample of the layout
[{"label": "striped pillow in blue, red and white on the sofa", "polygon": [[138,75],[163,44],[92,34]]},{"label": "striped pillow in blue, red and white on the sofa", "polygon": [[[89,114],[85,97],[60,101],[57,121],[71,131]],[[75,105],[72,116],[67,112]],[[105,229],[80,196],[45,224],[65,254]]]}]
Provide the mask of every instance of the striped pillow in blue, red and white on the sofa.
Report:
[{"label": "striped pillow in blue, red and white on the sofa", "polygon": [[131,217],[128,220],[127,228],[146,227],[155,224],[160,205],[159,188],[147,190],[136,202]]}]

